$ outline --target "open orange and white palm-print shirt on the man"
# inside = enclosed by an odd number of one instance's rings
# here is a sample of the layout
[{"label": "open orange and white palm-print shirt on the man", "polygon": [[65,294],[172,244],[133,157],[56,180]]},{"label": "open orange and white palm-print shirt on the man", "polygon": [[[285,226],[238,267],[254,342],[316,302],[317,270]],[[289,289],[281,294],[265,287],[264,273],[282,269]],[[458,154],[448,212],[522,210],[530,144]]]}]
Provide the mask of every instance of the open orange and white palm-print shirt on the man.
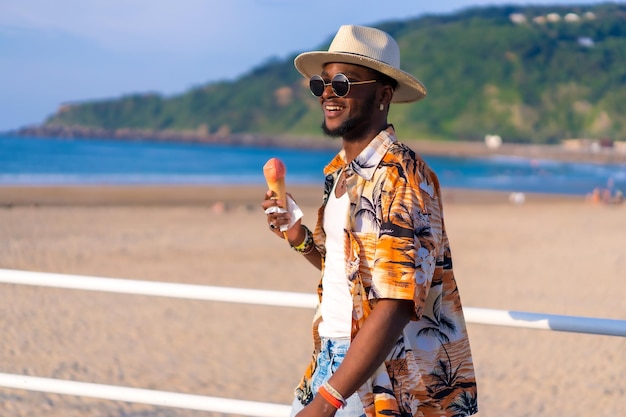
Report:
[{"label": "open orange and white palm-print shirt on the man", "polygon": [[[413,320],[384,363],[358,390],[368,416],[466,416],[477,409],[476,379],[441,207],[439,181],[392,126],[349,165],[341,151],[324,169],[324,199],[314,240],[326,249],[324,207],[342,168],[350,198],[344,230],[346,279],[353,299],[352,337],[376,300],[413,300]],[[318,286],[323,297],[323,289]],[[296,394],[313,396],[310,378],[320,350],[319,308],[314,351]]]}]

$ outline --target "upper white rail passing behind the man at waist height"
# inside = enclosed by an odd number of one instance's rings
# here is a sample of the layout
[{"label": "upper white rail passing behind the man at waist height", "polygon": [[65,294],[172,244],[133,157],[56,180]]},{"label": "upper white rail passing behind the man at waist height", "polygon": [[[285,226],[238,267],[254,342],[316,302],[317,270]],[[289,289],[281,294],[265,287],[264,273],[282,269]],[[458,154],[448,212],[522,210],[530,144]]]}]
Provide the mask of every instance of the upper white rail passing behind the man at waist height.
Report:
[{"label": "upper white rail passing behind the man at waist height", "polygon": [[[0,283],[194,300],[314,308],[314,294],[0,269]],[[464,307],[468,323],[626,337],[626,320]]]}]

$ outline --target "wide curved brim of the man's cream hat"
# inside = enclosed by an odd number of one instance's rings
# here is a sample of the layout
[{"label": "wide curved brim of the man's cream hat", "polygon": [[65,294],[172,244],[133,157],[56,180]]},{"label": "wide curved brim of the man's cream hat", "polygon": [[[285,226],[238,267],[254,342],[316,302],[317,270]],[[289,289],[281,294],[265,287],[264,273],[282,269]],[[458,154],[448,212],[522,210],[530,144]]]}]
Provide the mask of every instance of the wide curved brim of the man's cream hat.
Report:
[{"label": "wide curved brim of the man's cream hat", "polygon": [[398,82],[398,86],[394,90],[392,103],[411,103],[423,99],[428,94],[424,84],[411,74],[362,55],[326,51],[305,52],[295,58],[294,65],[300,74],[310,78],[319,74],[329,62],[361,65],[393,78]]}]

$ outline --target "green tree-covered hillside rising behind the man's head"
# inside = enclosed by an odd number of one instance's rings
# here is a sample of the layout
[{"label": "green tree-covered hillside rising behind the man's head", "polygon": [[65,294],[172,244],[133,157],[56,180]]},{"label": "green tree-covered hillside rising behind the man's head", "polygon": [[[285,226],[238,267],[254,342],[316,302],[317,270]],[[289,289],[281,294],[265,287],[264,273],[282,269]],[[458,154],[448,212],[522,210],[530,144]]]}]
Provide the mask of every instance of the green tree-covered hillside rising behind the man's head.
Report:
[{"label": "green tree-covered hillside rising behind the man's head", "polygon": [[[474,8],[378,27],[429,90],[417,104],[392,105],[405,138],[626,139],[626,5]],[[176,96],[67,104],[45,126],[321,135],[318,102],[293,58]]]}]

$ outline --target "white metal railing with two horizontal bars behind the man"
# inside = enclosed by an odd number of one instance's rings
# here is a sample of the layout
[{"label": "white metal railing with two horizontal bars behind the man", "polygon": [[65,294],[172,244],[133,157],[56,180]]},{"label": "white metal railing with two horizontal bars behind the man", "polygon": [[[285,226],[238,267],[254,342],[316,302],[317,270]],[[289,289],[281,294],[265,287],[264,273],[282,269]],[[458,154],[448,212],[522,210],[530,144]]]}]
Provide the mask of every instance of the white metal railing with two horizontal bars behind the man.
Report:
[{"label": "white metal railing with two horizontal bars behind the man", "polygon": [[[315,294],[214,287],[0,269],[0,283],[194,300],[314,308]],[[259,301],[261,300],[261,301]],[[626,320],[465,307],[468,323],[626,337]],[[192,394],[1,374],[0,387],[259,417],[287,416],[290,406]]]}]

